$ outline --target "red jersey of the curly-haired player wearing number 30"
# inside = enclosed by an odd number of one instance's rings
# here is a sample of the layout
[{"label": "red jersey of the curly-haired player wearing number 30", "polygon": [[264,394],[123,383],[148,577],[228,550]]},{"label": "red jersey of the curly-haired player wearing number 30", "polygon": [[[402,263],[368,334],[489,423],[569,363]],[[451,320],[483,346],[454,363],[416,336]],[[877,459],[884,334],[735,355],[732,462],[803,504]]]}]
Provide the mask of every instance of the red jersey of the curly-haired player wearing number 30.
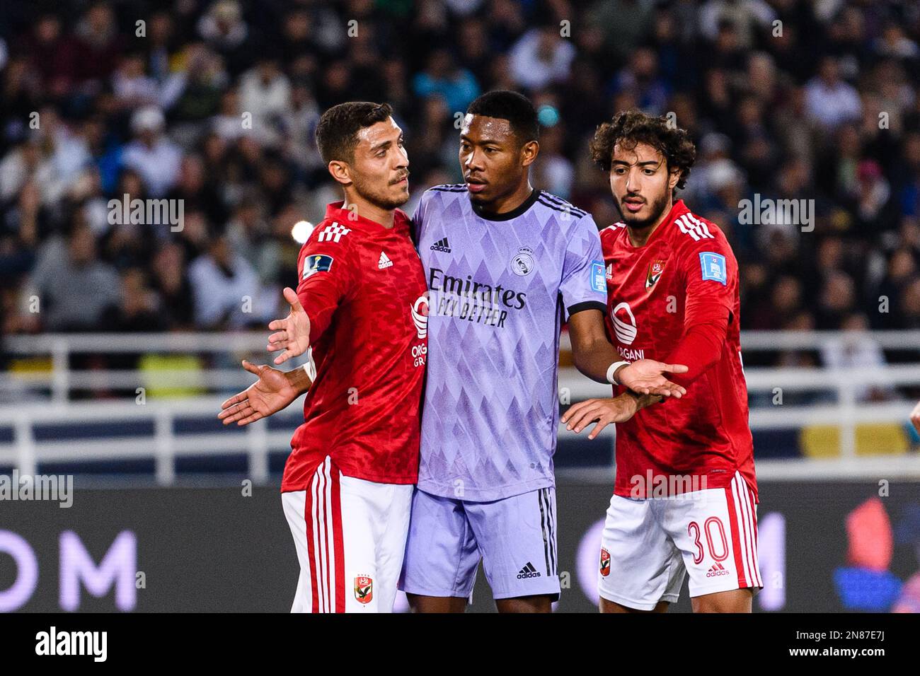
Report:
[{"label": "red jersey of the curly-haired player wearing number 30", "polygon": [[738,262],[725,235],[677,201],[645,246],[632,246],[624,223],[601,231],[601,245],[604,323],[623,359],[690,369],[668,374],[686,388],[683,398],[646,407],[616,425],[614,493],[657,497],[730,487],[738,471],[756,496]]}]

